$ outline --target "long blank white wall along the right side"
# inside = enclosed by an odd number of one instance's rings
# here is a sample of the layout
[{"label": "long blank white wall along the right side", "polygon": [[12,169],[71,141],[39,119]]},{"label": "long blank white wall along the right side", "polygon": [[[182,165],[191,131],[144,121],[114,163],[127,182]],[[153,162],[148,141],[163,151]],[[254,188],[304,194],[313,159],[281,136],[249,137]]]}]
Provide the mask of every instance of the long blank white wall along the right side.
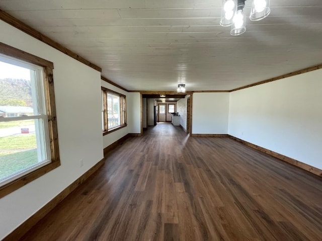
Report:
[{"label": "long blank white wall along the right side", "polygon": [[230,94],[232,136],[322,169],[322,69]]}]

